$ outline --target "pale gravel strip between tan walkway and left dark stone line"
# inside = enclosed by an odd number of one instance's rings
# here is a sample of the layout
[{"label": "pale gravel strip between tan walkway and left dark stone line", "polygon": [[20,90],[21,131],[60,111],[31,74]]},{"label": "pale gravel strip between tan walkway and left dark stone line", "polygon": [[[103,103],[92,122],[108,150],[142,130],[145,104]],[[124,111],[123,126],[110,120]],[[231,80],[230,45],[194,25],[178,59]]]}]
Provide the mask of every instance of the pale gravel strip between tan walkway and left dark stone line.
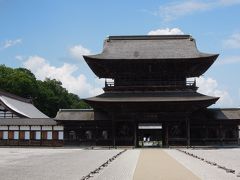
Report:
[{"label": "pale gravel strip between tan walkway and left dark stone line", "polygon": [[127,150],[96,175],[94,180],[132,180],[140,150]]}]

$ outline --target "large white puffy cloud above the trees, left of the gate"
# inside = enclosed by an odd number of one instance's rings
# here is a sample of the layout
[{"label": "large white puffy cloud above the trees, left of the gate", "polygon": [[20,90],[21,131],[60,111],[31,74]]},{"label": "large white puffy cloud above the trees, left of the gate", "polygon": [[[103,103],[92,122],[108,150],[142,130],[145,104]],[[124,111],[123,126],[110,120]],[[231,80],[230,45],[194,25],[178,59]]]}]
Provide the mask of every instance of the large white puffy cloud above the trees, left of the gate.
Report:
[{"label": "large white puffy cloud above the trees, left of the gate", "polygon": [[40,56],[30,56],[23,63],[23,66],[30,69],[37,79],[51,78],[61,81],[64,88],[71,93],[79,95],[81,98],[95,96],[103,92],[102,88],[100,88],[101,83],[98,82],[99,80],[96,79],[98,83],[92,85],[87,82],[84,74],[74,76],[73,73],[78,69],[76,65],[64,63],[61,67],[55,67]]}]

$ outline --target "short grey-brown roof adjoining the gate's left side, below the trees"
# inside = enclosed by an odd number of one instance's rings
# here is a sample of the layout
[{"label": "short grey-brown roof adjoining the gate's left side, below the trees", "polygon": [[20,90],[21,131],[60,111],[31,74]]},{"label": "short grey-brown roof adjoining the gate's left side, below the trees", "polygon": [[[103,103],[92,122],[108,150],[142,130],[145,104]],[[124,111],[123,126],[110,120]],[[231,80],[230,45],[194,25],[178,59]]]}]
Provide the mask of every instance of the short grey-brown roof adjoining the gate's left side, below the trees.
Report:
[{"label": "short grey-brown roof adjoining the gate's left side, below the trees", "polygon": [[60,109],[55,120],[94,120],[93,109]]}]

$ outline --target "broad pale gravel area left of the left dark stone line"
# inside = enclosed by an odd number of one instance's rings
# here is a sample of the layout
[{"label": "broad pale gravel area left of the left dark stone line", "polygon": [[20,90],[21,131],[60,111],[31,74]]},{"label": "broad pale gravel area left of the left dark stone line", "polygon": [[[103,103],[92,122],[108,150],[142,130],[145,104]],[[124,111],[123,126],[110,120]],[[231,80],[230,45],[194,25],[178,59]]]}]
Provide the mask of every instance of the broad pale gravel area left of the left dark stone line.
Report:
[{"label": "broad pale gravel area left of the left dark stone line", "polygon": [[0,148],[0,179],[79,180],[120,151]]}]

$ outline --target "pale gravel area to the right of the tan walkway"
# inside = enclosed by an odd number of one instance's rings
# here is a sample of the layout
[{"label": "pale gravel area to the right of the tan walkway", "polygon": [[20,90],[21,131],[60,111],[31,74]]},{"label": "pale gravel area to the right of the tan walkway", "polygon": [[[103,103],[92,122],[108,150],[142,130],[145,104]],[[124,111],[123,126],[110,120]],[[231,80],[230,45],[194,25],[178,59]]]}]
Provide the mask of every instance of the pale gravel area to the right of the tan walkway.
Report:
[{"label": "pale gravel area to the right of the tan walkway", "polygon": [[[190,152],[192,154],[198,155],[208,161],[213,161],[219,163],[219,165],[223,165],[228,168],[233,168],[235,170],[240,170],[240,149],[182,149],[184,151]],[[234,180],[239,177],[236,174],[227,173],[223,169],[219,169],[217,166],[213,166],[203,162],[199,159],[193,158],[189,155],[186,155],[182,152],[179,152],[174,149],[166,149],[164,150],[173,158],[175,158],[178,162],[184,165],[186,168],[191,170],[194,174],[196,174],[199,178],[204,180]]]}]

